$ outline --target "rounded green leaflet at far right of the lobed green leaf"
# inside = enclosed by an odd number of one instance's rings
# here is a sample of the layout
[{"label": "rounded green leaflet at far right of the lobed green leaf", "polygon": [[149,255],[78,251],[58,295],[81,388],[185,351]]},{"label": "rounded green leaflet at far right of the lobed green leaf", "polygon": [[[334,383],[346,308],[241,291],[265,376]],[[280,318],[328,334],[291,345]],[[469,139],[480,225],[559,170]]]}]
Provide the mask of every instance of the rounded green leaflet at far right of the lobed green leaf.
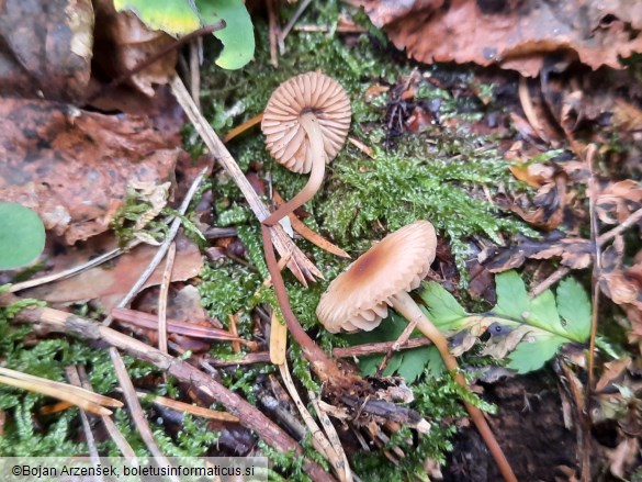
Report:
[{"label": "rounded green leaflet at far right of the lobed green leaf", "polygon": [[574,278],[566,278],[557,288],[557,310],[566,322],[565,328],[577,341],[590,335],[590,300]]}]

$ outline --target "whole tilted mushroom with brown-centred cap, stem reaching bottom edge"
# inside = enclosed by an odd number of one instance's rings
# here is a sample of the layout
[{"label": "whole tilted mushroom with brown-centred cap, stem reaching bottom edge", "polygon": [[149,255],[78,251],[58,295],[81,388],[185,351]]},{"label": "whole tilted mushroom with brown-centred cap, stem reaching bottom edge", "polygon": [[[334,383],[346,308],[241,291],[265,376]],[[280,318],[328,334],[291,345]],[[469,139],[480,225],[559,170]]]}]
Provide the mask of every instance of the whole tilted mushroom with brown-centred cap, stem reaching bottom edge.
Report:
[{"label": "whole tilted mushroom with brown-centred cap, stem reaching bottom edge", "polygon": [[[370,332],[387,316],[391,306],[406,320],[417,323],[417,328],[439,350],[453,379],[469,389],[457,359],[448,348],[446,336],[408,294],[428,274],[436,248],[437,236],[428,221],[417,221],[388,234],[330,283],[322,295],[316,315],[331,333],[341,329]],[[465,401],[463,404],[504,478],[517,481],[482,412]]]}]

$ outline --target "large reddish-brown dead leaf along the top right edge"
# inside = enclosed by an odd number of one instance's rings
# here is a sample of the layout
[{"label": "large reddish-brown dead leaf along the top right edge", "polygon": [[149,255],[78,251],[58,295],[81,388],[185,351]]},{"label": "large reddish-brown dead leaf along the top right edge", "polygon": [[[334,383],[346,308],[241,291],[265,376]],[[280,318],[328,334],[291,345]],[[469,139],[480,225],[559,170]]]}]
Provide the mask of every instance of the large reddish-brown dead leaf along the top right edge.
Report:
[{"label": "large reddish-brown dead leaf along the top right edge", "polygon": [[496,64],[536,77],[551,54],[597,69],[622,68],[619,57],[642,52],[642,9],[630,0],[359,3],[397,48],[429,64]]}]

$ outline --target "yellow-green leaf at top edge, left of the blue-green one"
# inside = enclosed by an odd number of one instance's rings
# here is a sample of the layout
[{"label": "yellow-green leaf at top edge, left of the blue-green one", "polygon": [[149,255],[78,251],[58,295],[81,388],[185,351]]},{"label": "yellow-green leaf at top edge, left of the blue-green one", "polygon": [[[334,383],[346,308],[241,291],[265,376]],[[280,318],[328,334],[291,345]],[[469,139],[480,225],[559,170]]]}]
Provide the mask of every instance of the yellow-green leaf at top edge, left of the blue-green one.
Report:
[{"label": "yellow-green leaf at top edge, left of the blue-green one", "polygon": [[188,0],[114,0],[119,12],[133,11],[150,30],[184,35],[201,27],[201,20]]}]

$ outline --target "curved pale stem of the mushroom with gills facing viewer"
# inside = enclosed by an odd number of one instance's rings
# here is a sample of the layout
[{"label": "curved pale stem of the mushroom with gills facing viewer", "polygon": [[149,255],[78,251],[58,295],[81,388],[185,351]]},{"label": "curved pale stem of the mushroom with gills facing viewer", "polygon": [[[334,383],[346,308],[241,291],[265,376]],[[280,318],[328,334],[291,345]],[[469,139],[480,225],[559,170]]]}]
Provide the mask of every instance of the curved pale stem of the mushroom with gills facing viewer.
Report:
[{"label": "curved pale stem of the mushroom with gills facing viewer", "polygon": [[309,172],[309,179],[299,194],[285,204],[282,204],[277,211],[263,220],[266,226],[277,224],[281,218],[309,201],[314,194],[316,194],[316,191],[318,191],[324,180],[324,173],[326,171],[326,154],[324,150],[324,138],[318,125],[318,120],[313,112],[306,112],[301,115],[300,122],[301,126],[307,134],[312,149],[312,170]]}]

